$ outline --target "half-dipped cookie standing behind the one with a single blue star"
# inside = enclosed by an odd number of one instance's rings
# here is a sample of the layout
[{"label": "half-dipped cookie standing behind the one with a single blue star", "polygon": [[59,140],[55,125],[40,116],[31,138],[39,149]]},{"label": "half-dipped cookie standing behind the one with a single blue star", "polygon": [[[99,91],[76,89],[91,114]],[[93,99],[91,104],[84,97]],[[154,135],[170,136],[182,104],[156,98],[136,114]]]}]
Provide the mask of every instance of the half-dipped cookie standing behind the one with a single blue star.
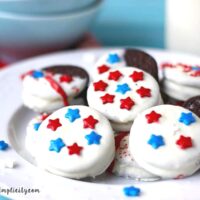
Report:
[{"label": "half-dipped cookie standing behind the one with a single blue star", "polygon": [[115,49],[99,58],[95,64],[94,76],[119,66],[132,66],[151,74],[158,81],[158,66],[155,59],[139,49]]}]

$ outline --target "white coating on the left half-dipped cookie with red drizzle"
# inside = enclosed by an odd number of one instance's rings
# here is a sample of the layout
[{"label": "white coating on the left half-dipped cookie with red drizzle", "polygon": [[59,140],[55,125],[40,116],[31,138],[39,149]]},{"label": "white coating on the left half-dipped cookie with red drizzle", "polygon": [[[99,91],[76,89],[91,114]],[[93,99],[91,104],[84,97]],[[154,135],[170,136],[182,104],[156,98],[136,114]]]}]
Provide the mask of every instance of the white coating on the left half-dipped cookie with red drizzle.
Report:
[{"label": "white coating on the left half-dipped cookie with red drizzle", "polygon": [[[74,76],[69,83],[61,82],[60,78],[62,75],[55,74],[52,75],[52,78],[67,94],[68,101],[70,102],[85,89],[87,80]],[[62,96],[52,88],[45,77],[34,78],[31,75],[26,75],[22,83],[23,102],[27,107],[36,112],[52,112],[64,106]]]}]

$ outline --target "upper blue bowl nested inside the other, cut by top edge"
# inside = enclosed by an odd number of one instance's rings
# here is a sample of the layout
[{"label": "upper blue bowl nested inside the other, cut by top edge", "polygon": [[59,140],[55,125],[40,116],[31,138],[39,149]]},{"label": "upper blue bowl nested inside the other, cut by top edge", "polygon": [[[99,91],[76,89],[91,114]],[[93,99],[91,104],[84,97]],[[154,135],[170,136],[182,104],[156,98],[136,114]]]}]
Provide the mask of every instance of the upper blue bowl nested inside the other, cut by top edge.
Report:
[{"label": "upper blue bowl nested inside the other, cut by top edge", "polygon": [[86,8],[95,0],[0,0],[0,12],[45,15],[74,12]]}]

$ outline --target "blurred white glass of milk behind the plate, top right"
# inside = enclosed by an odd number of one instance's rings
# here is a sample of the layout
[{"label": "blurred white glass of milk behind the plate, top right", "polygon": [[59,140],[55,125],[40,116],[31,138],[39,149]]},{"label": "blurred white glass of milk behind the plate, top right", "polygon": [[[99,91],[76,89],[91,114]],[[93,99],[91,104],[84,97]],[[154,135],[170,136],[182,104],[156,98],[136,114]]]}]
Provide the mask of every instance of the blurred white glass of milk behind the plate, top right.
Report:
[{"label": "blurred white glass of milk behind the plate, top right", "polygon": [[200,55],[200,0],[166,0],[165,44]]}]

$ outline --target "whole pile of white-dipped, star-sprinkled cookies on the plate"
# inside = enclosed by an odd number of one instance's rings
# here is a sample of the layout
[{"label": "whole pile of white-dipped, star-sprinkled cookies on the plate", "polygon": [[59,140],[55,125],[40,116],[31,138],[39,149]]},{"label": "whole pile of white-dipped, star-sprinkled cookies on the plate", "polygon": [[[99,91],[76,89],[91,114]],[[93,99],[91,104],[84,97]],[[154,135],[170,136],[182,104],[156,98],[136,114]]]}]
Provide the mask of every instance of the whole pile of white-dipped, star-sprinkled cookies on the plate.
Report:
[{"label": "whole pile of white-dipped, star-sprinkled cookies on the plate", "polygon": [[[181,80],[193,88],[199,80],[190,76],[198,70],[191,70],[188,81]],[[199,98],[185,108],[164,105],[157,63],[136,49],[108,52],[93,74],[90,84],[88,73],[76,66],[22,76],[24,104],[41,113],[28,124],[26,136],[38,166],[74,179],[109,171],[141,181],[179,179],[199,170],[200,118],[192,112]],[[170,96],[176,91],[169,93],[165,85],[173,77],[164,74],[164,92]],[[83,101],[75,105],[77,98]]]}]

